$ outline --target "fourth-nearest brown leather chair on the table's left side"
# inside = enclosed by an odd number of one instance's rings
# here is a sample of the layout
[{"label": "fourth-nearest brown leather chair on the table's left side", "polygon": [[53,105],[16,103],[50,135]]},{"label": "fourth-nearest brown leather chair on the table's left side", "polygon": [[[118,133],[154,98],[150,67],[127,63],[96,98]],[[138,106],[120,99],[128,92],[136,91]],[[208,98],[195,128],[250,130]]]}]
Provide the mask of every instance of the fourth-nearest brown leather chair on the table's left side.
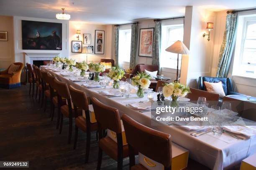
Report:
[{"label": "fourth-nearest brown leather chair on the table's left side", "polygon": [[[59,122],[59,134],[62,132],[63,127],[63,116],[69,118],[69,135],[68,135],[68,144],[71,143],[72,137],[72,126],[73,126],[73,117],[74,109],[72,109],[71,97],[69,93],[69,88],[67,83],[61,82],[57,79],[54,79],[58,94],[58,122]],[[67,104],[66,104],[67,103]],[[60,110],[60,112],[59,112]]]}]

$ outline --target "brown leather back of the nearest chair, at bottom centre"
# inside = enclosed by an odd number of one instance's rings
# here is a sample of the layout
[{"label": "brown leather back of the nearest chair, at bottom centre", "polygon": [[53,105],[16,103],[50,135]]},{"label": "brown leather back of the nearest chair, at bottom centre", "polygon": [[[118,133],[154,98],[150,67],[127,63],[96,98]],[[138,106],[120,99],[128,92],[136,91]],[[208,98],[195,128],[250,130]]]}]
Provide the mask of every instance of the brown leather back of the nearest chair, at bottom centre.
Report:
[{"label": "brown leather back of the nearest chair, at bottom centre", "polygon": [[146,127],[126,114],[122,116],[122,120],[129,145],[129,153],[136,150],[146,157],[163,164],[165,168],[172,166],[172,140],[170,134]]}]

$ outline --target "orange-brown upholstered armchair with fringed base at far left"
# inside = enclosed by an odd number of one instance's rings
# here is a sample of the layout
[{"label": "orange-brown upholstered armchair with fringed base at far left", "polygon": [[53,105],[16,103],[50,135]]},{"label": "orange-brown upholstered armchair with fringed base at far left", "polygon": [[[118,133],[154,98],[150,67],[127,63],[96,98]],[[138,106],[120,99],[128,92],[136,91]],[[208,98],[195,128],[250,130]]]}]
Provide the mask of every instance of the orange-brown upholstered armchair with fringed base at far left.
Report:
[{"label": "orange-brown upholstered armchair with fringed base at far left", "polygon": [[15,87],[20,86],[20,74],[21,70],[23,69],[24,64],[23,63],[13,63],[15,65],[19,65],[19,69],[12,74],[8,74],[8,69],[4,71],[0,71],[0,87],[5,89],[12,89]]}]

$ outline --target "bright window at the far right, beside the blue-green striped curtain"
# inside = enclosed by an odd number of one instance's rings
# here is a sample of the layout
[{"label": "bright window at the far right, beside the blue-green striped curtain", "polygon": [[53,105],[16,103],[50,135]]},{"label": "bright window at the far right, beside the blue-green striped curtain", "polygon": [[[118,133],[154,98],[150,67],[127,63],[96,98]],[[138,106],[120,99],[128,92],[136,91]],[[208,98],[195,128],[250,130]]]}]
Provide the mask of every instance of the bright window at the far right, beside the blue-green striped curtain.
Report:
[{"label": "bright window at the far right, beside the blue-green striped curtain", "polygon": [[233,74],[256,77],[256,17],[239,17]]}]

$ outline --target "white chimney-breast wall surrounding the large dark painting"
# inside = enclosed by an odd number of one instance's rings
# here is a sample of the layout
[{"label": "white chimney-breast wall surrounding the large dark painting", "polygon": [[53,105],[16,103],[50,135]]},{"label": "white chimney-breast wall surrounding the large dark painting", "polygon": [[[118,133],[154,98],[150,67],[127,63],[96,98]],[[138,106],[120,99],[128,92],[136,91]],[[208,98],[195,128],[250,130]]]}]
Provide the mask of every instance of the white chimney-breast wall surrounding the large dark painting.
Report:
[{"label": "white chimney-breast wall surrounding the large dark painting", "polygon": [[[62,23],[62,50],[23,50],[22,49],[22,32],[21,32],[21,20],[33,20],[33,21],[44,21],[51,23]],[[25,63],[24,53],[60,53],[59,56],[68,56],[69,51],[69,21],[67,20],[51,20],[44,18],[29,18],[29,17],[13,17],[13,27],[14,27],[14,53],[15,62]],[[54,57],[54,56],[53,56]]]}]

